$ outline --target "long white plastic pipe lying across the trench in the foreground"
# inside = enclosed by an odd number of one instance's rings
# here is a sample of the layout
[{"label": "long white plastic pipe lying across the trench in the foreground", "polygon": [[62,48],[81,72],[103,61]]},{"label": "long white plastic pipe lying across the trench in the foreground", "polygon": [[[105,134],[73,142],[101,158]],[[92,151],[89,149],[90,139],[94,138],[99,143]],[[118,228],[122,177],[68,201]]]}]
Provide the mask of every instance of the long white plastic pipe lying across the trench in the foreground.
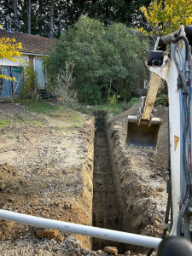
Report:
[{"label": "long white plastic pipe lying across the trench in the foreground", "polygon": [[60,230],[68,233],[92,236],[100,239],[119,241],[143,247],[156,248],[162,239],[157,237],[142,236],[125,233],[116,230],[106,230],[82,224],[73,224],[49,218],[39,218],[18,212],[0,210],[0,219],[15,221],[21,224],[28,224],[38,228]]}]

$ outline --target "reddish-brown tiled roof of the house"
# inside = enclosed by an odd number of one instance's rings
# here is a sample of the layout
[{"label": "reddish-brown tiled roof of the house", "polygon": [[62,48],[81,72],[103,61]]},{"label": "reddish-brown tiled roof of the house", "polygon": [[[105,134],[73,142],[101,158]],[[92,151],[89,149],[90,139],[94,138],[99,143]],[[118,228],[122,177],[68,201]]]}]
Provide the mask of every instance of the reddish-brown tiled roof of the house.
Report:
[{"label": "reddish-brown tiled roof of the house", "polygon": [[20,32],[7,32],[0,29],[0,38],[15,38],[16,43],[21,43],[23,49],[21,52],[49,55],[50,49],[56,40],[51,38],[43,38],[34,35],[28,35]]}]

